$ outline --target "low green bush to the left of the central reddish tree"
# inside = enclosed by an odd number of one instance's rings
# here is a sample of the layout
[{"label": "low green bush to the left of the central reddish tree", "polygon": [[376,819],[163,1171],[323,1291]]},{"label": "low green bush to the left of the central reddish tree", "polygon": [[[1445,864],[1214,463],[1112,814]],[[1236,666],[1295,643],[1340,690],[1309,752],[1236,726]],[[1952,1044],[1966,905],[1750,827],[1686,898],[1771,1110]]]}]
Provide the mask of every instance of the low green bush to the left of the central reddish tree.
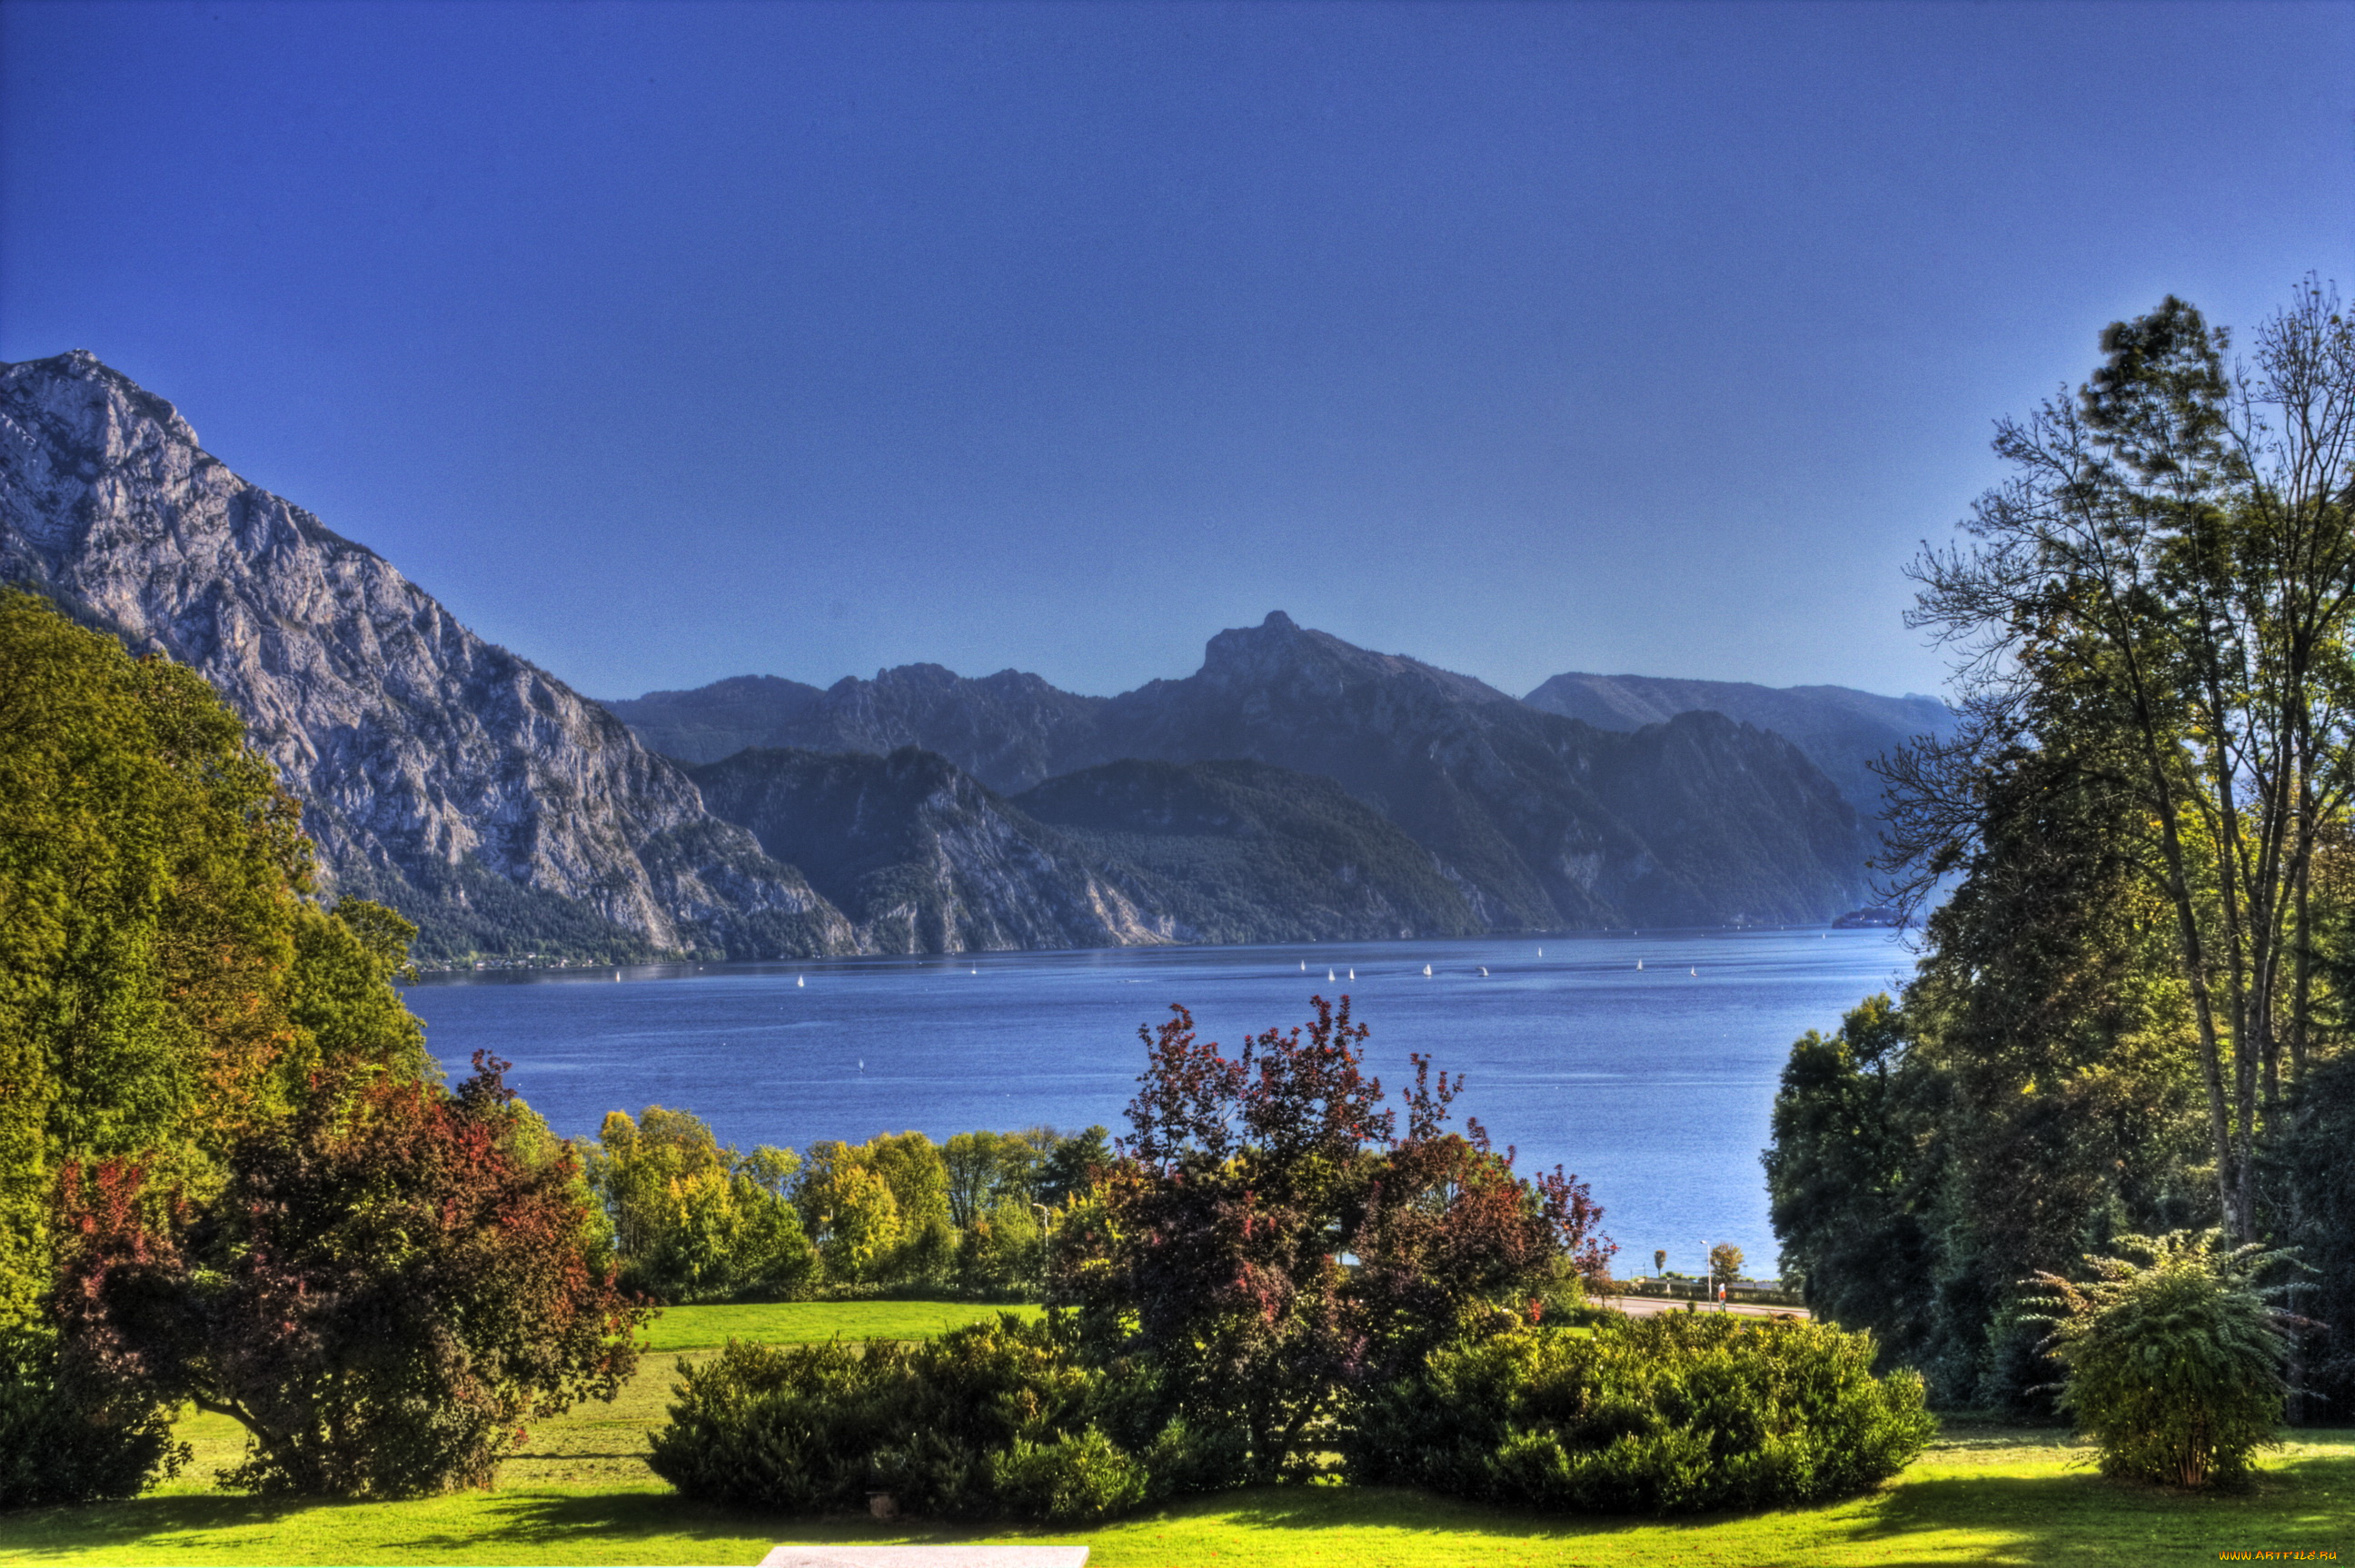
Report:
[{"label": "low green bush to the left of the central reddish tree", "polygon": [[[1013,1314],[926,1344],[744,1344],[681,1366],[655,1474],[688,1497],[822,1514],[890,1493],[907,1514],[1086,1521],[1168,1495],[1185,1434],[1123,1448],[1116,1380],[1053,1321]],[[1154,1486],[1154,1469],[1163,1483]]]}]

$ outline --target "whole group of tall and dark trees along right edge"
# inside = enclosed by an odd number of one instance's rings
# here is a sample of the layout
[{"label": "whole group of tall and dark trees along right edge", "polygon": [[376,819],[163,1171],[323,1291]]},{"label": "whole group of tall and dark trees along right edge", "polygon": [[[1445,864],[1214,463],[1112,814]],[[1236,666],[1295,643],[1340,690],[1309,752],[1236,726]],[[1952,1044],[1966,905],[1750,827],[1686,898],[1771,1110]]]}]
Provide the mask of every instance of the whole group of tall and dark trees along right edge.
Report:
[{"label": "whole group of tall and dark trees along right edge", "polygon": [[1766,1170],[1785,1269],[1948,1401],[2035,1403],[2054,1281],[2214,1227],[2355,1403],[2355,325],[2308,283],[2228,356],[2112,325],[1917,565],[1964,723],[1886,765],[1884,864],[1952,897],[1792,1048]]}]

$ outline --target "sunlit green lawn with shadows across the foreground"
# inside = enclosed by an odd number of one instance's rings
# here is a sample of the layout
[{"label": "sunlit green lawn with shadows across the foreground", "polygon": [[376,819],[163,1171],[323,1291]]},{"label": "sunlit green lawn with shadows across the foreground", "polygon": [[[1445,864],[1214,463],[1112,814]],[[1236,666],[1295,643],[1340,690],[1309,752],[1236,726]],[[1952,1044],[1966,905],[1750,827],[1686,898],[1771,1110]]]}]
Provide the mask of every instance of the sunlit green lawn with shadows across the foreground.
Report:
[{"label": "sunlit green lawn with shadows across the foreground", "polygon": [[[923,1316],[930,1314],[930,1316]],[[975,1316],[933,1302],[690,1307],[664,1342],[916,1337]],[[490,1493],[422,1502],[287,1504],[212,1490],[238,1453],[224,1420],[191,1417],[191,1471],[146,1497],[0,1516],[0,1561],[24,1563],[756,1563],[780,1540],[1072,1540],[1090,1568],[1439,1568],[1486,1563],[2214,1563],[2218,1552],[2355,1552],[2355,1431],[2306,1431],[2240,1497],[2103,1481],[2054,1431],[1955,1427],[1882,1493],[1825,1509],[1656,1523],[1561,1521],[1338,1486],[1227,1493],[1086,1533],[911,1530],[787,1521],[681,1502],[643,1462],[678,1356],[650,1356],[612,1406],[532,1434]]]}]

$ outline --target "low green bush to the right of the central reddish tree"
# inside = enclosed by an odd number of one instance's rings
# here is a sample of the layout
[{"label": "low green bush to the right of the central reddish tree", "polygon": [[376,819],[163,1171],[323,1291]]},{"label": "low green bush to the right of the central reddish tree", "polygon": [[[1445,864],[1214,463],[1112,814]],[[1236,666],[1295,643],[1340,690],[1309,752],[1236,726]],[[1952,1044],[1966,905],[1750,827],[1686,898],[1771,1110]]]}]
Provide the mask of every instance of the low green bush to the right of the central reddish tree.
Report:
[{"label": "low green bush to the right of the central reddish tree", "polygon": [[1903,1469],[1936,1424],[1870,1335],[1722,1314],[1512,1328],[1359,1401],[1352,1481],[1514,1507],[1679,1514],[1827,1502]]}]

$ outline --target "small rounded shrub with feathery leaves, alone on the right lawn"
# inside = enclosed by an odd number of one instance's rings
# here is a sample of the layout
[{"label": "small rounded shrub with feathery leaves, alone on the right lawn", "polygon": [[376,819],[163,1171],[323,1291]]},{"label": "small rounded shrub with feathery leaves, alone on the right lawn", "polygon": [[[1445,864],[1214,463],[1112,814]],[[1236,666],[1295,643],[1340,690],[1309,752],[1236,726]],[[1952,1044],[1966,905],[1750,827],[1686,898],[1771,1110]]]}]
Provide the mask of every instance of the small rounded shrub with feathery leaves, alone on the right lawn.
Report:
[{"label": "small rounded shrub with feathery leaves, alone on the right lawn", "polygon": [[2273,1307],[2287,1285],[2256,1278],[2284,1253],[2221,1250],[2216,1231],[2120,1236],[2131,1257],[2087,1257],[2087,1285],[2035,1281],[2068,1368],[2061,1408],[2101,1443],[2110,1476],[2207,1486],[2240,1481],[2277,1441],[2289,1321]]}]

